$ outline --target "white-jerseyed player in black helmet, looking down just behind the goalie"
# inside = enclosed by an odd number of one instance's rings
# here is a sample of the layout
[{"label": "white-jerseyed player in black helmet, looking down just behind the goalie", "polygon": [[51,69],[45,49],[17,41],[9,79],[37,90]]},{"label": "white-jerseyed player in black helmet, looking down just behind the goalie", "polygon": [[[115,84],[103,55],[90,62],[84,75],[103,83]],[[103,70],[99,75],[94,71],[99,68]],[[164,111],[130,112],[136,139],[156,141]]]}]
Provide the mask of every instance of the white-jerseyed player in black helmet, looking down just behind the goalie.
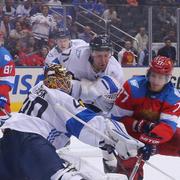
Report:
[{"label": "white-jerseyed player in black helmet, looking down just behind the goalie", "polygon": [[[102,106],[94,104],[93,96],[97,96],[97,94],[91,88],[96,86],[95,83],[98,78],[104,75],[113,77],[119,82],[119,89],[124,82],[121,65],[112,56],[112,53],[112,43],[109,36],[98,35],[88,46],[72,48],[68,58],[59,58],[58,62],[51,63],[62,64],[71,72],[74,77],[73,88],[75,88],[75,90],[72,89],[72,95],[75,98],[80,96],[87,107],[99,112],[105,109],[101,109]],[[81,89],[80,94],[77,93],[79,92],[78,88]]]}]

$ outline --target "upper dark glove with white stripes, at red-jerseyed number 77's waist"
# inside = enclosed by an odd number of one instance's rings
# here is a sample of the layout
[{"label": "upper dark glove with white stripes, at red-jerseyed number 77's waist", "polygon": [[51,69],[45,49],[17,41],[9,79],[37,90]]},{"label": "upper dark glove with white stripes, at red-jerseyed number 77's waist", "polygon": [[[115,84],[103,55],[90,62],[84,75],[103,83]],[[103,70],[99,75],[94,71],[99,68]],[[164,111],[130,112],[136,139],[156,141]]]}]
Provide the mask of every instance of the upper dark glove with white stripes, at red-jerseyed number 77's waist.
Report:
[{"label": "upper dark glove with white stripes, at red-jerseyed number 77's waist", "polygon": [[133,130],[139,133],[148,133],[155,126],[155,123],[149,122],[147,120],[134,121]]}]

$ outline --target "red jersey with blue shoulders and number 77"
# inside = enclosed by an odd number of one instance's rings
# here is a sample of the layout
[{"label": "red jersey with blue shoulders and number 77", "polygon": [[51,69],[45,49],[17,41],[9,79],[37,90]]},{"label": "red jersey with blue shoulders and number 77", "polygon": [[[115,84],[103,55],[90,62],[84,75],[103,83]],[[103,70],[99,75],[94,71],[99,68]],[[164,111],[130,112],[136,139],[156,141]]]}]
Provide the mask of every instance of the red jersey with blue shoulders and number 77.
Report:
[{"label": "red jersey with blue shoulders and number 77", "polygon": [[165,142],[176,131],[180,117],[180,93],[171,82],[161,92],[152,92],[146,77],[136,76],[125,82],[110,114],[124,122],[127,129],[133,128],[135,120],[158,123],[151,132],[164,137]]}]

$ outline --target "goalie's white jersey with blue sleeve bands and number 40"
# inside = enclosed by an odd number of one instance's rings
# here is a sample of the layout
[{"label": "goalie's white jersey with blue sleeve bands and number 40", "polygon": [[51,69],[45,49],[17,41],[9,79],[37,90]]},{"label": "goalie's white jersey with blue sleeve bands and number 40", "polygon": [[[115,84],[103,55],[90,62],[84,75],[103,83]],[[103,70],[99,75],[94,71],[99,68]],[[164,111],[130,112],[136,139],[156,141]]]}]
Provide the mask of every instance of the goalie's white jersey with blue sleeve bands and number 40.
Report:
[{"label": "goalie's white jersey with blue sleeve bands and number 40", "polygon": [[51,142],[56,149],[63,147],[71,135],[84,143],[98,146],[102,141],[101,137],[58,108],[57,104],[100,132],[105,132],[106,124],[102,116],[96,116],[93,111],[81,106],[72,96],[57,89],[47,88],[43,82],[30,90],[20,112],[13,114],[2,129],[10,128],[39,134]]}]

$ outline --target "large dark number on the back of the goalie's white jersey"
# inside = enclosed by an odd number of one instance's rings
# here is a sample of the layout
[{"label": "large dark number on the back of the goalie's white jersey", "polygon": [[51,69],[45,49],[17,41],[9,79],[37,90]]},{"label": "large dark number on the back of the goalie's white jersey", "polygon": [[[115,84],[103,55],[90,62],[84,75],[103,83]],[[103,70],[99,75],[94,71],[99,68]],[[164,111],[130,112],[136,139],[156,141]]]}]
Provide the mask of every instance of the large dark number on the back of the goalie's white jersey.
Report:
[{"label": "large dark number on the back of the goalie's white jersey", "polygon": [[40,97],[36,97],[33,101],[29,100],[29,98],[27,98],[24,101],[23,107],[20,109],[20,113],[24,113],[27,115],[31,115],[32,111],[34,110],[34,106],[36,104],[40,104],[41,107],[39,108],[39,110],[37,111],[37,115],[36,117],[41,118],[43,112],[47,109],[48,107],[48,103],[47,101],[45,101],[44,99],[40,98]]}]

